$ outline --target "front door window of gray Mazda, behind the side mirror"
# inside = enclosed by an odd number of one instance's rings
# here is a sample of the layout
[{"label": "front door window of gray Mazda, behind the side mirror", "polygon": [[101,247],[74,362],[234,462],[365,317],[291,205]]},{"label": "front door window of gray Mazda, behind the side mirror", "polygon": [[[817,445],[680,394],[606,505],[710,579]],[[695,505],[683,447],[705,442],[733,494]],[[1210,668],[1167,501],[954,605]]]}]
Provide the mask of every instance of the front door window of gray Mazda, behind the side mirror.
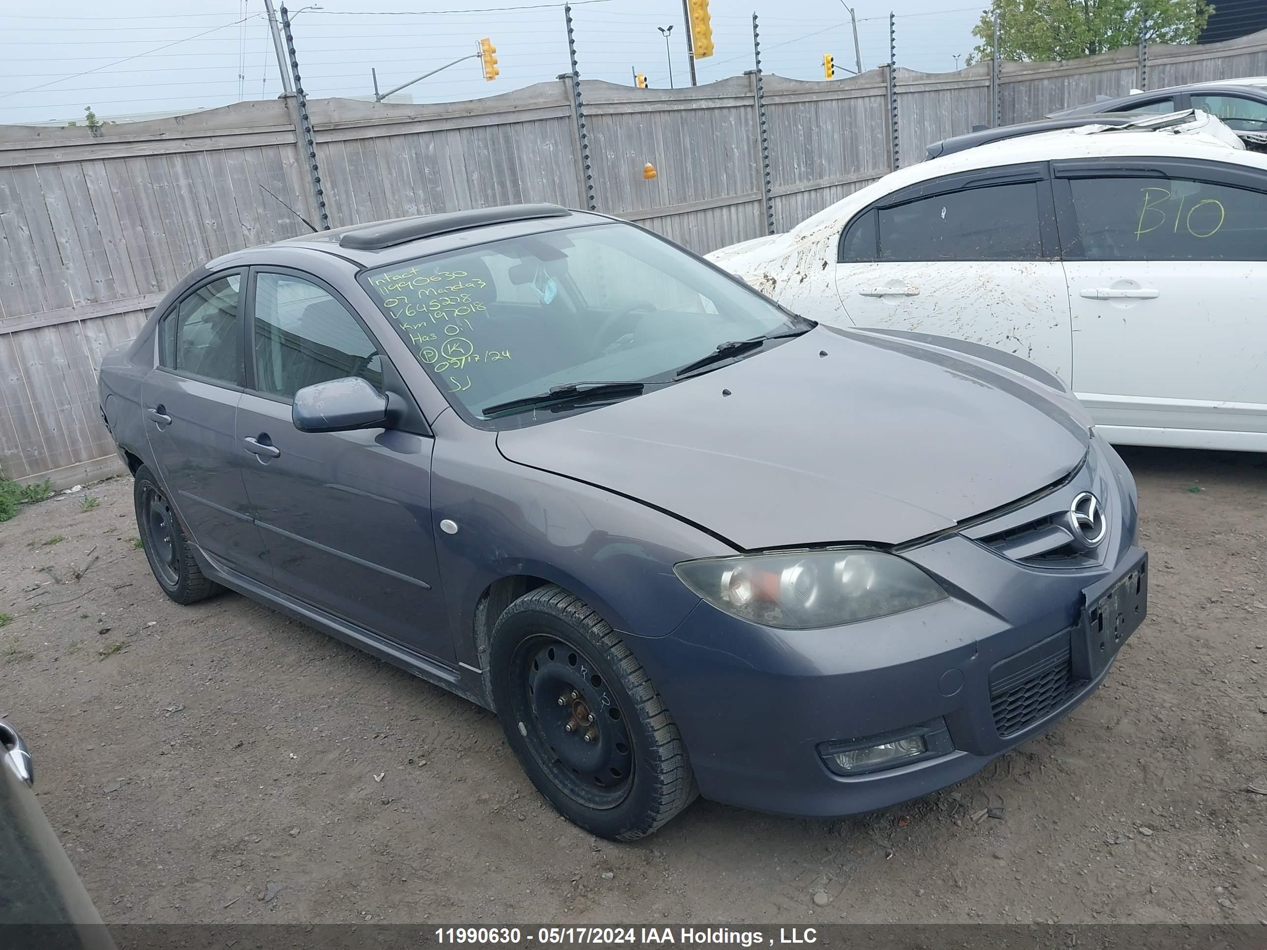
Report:
[{"label": "front door window of gray Mazda, behind the side mirror", "polygon": [[360,376],[383,389],[383,357],[338,300],[312,281],[260,274],[255,284],[255,386],[290,399],[304,386]]}]

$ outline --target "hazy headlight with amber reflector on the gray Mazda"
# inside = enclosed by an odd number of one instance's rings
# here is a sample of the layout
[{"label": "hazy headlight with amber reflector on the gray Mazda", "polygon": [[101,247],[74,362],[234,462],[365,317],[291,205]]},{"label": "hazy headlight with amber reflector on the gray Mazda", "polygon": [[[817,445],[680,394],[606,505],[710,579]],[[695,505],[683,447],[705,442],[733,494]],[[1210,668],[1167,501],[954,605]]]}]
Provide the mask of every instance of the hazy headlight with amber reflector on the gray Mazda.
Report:
[{"label": "hazy headlight with amber reflector on the gray Mazda", "polygon": [[933,578],[881,551],[801,551],[683,561],[673,569],[699,597],[767,627],[812,630],[936,603]]}]

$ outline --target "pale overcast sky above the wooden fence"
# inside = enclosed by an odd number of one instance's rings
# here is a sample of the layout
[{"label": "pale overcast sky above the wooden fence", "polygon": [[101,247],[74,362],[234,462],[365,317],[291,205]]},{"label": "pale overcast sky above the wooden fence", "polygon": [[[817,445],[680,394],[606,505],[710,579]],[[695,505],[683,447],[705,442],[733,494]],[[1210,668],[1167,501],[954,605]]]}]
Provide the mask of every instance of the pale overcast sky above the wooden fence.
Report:
[{"label": "pale overcast sky above the wooden fence", "polygon": [[[275,0],[276,1],[276,0]],[[962,1],[962,0],[960,0]],[[280,3],[276,3],[280,8]],[[291,0],[294,13],[308,0]],[[897,62],[945,72],[968,53],[986,1],[856,0],[862,65],[888,60],[888,14],[897,14]],[[0,13],[0,123],[82,122],[98,117],[212,108],[281,91],[264,0],[8,0]],[[385,91],[497,46],[500,76],[485,82],[475,60],[409,87],[416,101],[507,92],[570,71],[563,6],[540,0],[324,0],[295,16],[294,35],[309,96],[369,95],[370,70]],[[519,9],[509,9],[519,8]],[[761,66],[822,79],[831,53],[837,77],[854,66],[841,0],[712,0],[716,53],[697,65],[699,82],[753,65],[751,15],[761,27]],[[689,85],[680,0],[576,0],[573,19],[582,79],[653,86]],[[242,20],[241,23],[236,23]],[[666,57],[659,27],[673,27]],[[162,48],[160,48],[162,47]],[[131,58],[129,58],[131,57]],[[124,62],[118,62],[125,60]],[[104,68],[101,68],[104,67]],[[90,71],[90,72],[86,72]]]}]

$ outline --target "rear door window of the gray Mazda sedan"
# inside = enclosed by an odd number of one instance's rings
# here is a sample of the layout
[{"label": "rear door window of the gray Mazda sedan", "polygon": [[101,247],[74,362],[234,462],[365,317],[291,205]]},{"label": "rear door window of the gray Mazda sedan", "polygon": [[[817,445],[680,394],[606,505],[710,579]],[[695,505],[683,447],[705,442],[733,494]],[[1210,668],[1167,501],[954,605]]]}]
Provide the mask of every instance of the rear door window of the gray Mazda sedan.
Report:
[{"label": "rear door window of the gray Mazda sedan", "polygon": [[182,299],[158,324],[158,365],[236,386],[242,367],[241,288],[242,276],[231,274]]}]

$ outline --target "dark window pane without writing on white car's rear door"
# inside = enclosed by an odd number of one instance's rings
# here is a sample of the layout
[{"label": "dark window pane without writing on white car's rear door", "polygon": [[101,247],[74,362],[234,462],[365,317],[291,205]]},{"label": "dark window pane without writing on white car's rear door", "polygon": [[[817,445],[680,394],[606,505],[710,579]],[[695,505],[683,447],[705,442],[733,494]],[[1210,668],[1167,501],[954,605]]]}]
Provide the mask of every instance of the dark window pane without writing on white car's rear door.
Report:
[{"label": "dark window pane without writing on white car's rear door", "polygon": [[952,191],[881,208],[882,261],[1036,261],[1038,184]]}]

